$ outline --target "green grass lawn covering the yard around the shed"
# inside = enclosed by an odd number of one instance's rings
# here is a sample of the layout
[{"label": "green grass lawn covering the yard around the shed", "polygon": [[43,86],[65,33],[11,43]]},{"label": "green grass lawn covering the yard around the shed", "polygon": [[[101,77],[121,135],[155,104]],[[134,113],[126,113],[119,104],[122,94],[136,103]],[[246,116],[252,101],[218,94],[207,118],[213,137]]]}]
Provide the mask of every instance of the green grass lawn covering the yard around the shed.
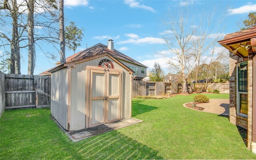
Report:
[{"label": "green grass lawn covering the yard around the shed", "polygon": [[5,111],[0,159],[256,159],[228,118],[182,106],[193,97],[133,100],[132,115],[144,122],[80,142],[68,139],[49,108]]}]

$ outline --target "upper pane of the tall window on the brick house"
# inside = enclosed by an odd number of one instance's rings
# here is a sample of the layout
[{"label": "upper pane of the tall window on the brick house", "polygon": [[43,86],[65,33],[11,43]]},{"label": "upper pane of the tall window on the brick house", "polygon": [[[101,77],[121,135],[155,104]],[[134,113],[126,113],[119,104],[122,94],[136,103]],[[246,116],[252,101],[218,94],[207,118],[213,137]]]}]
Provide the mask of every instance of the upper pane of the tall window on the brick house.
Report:
[{"label": "upper pane of the tall window on the brick house", "polygon": [[238,91],[248,92],[248,67],[247,62],[238,64]]}]

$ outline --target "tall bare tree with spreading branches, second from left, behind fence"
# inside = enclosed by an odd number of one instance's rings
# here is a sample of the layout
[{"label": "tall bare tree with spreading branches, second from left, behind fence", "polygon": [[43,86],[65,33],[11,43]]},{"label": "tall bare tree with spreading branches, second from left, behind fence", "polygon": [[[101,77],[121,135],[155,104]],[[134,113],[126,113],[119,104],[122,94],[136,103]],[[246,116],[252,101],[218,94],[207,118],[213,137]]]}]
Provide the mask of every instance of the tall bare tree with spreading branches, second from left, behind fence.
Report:
[{"label": "tall bare tree with spreading branches, second from left, behind fence", "polygon": [[[56,0],[25,0],[28,8],[28,74],[34,74],[34,68],[36,65],[36,51],[35,44],[38,46],[38,40],[50,42],[51,44],[58,43],[58,34],[53,36],[53,33],[56,33],[56,26],[54,25],[57,22],[56,15],[54,11],[57,9]],[[36,5],[35,5],[36,4]],[[34,14],[34,12],[36,12]],[[34,20],[36,16],[36,21]],[[44,35],[34,34],[34,25],[39,28],[44,29]],[[24,36],[26,37],[26,36]],[[26,40],[23,39],[23,40]],[[39,46],[40,47],[40,46]],[[43,50],[42,50],[43,51]]]}]

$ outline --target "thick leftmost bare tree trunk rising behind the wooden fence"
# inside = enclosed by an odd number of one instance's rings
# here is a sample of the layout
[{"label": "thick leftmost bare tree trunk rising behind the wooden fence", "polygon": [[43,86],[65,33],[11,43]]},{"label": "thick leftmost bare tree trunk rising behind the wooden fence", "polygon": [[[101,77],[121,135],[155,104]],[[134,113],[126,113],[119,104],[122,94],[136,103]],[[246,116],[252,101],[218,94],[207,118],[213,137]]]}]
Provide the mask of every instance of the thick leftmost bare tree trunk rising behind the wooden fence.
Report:
[{"label": "thick leftmost bare tree trunk rising behind the wooden fence", "polygon": [[12,42],[10,56],[10,73],[20,74],[20,44],[18,42],[18,8],[17,1],[12,1]]}]

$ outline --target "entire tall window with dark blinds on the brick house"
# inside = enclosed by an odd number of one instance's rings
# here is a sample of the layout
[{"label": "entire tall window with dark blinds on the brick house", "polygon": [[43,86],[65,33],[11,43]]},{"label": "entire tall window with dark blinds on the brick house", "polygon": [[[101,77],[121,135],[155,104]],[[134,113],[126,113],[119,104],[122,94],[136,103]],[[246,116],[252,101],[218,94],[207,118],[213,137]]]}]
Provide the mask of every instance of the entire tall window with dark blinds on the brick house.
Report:
[{"label": "entire tall window with dark blinds on the brick house", "polygon": [[248,116],[248,61],[236,66],[237,114]]}]

